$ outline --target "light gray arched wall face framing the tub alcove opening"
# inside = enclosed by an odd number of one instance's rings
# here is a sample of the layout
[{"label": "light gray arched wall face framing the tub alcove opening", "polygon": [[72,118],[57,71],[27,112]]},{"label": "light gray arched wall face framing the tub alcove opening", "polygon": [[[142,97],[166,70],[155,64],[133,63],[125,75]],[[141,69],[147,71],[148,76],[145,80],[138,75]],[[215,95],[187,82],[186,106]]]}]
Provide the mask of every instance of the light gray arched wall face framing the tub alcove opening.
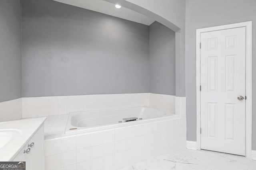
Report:
[{"label": "light gray arched wall face framing the tub alcove opening", "polygon": [[175,31],[176,96],[185,96],[185,3],[186,0],[104,0],[144,14]]}]

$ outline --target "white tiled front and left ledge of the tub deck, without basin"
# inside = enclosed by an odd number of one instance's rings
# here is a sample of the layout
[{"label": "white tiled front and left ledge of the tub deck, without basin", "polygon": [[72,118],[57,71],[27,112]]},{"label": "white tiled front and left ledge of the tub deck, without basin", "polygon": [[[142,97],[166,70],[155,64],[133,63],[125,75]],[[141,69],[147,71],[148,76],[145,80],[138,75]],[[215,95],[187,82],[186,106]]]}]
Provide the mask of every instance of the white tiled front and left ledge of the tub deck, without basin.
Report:
[{"label": "white tiled front and left ledge of the tub deck, without basin", "polygon": [[186,118],[176,115],[164,121],[64,135],[67,118],[50,116],[45,122],[46,170],[118,170],[186,145]]}]

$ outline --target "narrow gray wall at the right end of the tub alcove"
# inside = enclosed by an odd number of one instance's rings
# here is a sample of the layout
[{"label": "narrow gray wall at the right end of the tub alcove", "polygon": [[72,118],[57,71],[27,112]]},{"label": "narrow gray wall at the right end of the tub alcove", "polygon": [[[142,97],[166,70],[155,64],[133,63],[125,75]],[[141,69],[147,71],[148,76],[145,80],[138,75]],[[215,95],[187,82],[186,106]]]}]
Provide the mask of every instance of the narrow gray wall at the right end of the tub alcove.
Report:
[{"label": "narrow gray wall at the right end of the tub alcove", "polygon": [[150,92],[175,95],[175,32],[161,23],[149,27]]}]

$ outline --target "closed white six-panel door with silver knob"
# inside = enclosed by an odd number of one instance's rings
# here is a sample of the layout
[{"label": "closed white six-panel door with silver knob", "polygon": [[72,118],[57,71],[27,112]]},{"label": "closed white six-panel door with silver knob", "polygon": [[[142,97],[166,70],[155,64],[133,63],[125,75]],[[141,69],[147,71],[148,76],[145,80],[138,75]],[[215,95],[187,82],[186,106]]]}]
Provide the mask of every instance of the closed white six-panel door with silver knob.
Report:
[{"label": "closed white six-panel door with silver knob", "polygon": [[245,155],[246,28],[200,39],[201,149]]}]

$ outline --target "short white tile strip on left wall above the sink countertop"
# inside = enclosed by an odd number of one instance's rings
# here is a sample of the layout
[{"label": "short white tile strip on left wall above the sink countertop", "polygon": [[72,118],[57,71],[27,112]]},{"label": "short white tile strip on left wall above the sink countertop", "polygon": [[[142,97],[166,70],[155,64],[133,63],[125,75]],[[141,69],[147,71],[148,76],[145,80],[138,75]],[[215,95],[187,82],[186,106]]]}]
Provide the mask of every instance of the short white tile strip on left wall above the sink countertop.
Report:
[{"label": "short white tile strip on left wall above the sink countertop", "polygon": [[19,120],[22,117],[22,99],[0,102],[0,122]]}]

